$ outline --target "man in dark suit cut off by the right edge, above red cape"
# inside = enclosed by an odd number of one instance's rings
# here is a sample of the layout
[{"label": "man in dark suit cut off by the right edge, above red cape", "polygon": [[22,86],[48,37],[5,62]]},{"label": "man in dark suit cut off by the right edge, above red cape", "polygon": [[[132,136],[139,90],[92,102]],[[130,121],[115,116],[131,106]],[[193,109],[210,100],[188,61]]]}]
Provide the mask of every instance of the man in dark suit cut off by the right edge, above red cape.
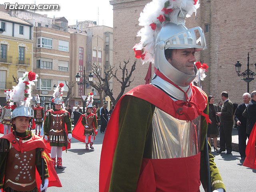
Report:
[{"label": "man in dark suit cut off by the right edge, above red cape", "polygon": [[251,93],[251,98],[252,101],[247,106],[248,126],[246,129],[246,134],[248,134],[248,137],[250,136],[252,128],[256,122],[256,91]]}]

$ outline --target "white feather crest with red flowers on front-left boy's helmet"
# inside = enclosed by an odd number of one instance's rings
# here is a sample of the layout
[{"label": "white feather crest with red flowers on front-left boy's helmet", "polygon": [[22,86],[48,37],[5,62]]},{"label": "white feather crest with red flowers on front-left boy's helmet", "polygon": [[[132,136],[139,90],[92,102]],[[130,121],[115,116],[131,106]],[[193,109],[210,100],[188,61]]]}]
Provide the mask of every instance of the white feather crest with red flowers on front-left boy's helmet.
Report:
[{"label": "white feather crest with red flowers on front-left boy's helmet", "polygon": [[35,82],[37,81],[38,75],[36,74],[35,80],[30,81],[28,78],[29,72],[25,72],[23,74],[23,77],[19,78],[19,83],[16,86],[13,86],[13,90],[10,93],[11,97],[11,104],[10,105],[16,105],[18,106],[25,106],[29,107],[31,97],[31,91],[32,91],[32,85],[35,85]]}]

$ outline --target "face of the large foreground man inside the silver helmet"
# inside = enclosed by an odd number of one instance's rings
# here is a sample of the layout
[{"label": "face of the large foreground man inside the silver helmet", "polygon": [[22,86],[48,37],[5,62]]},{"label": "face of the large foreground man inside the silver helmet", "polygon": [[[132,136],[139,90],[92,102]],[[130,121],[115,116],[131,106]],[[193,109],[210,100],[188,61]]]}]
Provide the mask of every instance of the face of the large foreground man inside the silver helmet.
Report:
[{"label": "face of the large foreground man inside the silver helmet", "polygon": [[176,49],[172,52],[172,58],[168,58],[168,62],[185,74],[195,75],[194,62],[196,58],[194,54],[194,48]]}]

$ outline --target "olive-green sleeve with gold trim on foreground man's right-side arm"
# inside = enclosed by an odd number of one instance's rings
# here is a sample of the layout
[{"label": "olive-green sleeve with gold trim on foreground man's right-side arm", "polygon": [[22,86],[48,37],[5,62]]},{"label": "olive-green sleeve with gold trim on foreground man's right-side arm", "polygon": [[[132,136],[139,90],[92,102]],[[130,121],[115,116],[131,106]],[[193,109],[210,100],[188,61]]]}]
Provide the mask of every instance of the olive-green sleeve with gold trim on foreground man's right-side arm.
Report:
[{"label": "olive-green sleeve with gold trim on foreground man's right-side arm", "polygon": [[[204,110],[205,114],[208,114],[208,106]],[[202,116],[201,121],[201,157],[200,157],[200,180],[202,182],[202,185],[204,187],[204,190],[206,190],[207,182],[208,182],[208,176],[207,176],[207,166],[206,166],[206,148],[204,147],[204,140],[206,137],[207,132],[207,123],[206,119]],[[208,143],[208,150],[209,150],[209,161],[210,161],[210,176],[211,176],[211,185],[212,185],[212,191],[216,190],[218,188],[223,188],[225,191],[225,186],[222,181],[222,178],[220,176],[220,172],[214,162],[214,156],[211,154],[211,146]]]}]

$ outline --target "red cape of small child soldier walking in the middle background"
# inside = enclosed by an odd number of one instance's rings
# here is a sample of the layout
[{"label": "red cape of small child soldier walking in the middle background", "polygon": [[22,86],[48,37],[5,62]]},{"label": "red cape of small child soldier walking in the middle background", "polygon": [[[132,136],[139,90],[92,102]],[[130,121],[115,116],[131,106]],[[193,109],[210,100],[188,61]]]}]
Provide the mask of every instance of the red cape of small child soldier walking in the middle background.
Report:
[{"label": "red cape of small child soldier walking in the middle background", "polygon": [[[87,118],[89,118],[92,115],[95,115],[95,114],[94,113],[90,113]],[[74,137],[75,139],[77,139],[80,142],[84,142],[85,143],[84,126],[82,125],[82,117],[85,117],[85,114],[82,114],[80,116],[80,118],[78,119],[78,122],[76,123],[76,126],[72,130],[72,137]],[[96,115],[95,115],[95,117],[96,117],[96,120],[97,120],[97,116]],[[95,132],[94,124],[93,124],[93,128],[94,128],[94,132]],[[95,132],[95,134],[97,135],[98,132]],[[90,142],[91,142],[91,136],[88,137],[88,143],[90,143]]]}]

